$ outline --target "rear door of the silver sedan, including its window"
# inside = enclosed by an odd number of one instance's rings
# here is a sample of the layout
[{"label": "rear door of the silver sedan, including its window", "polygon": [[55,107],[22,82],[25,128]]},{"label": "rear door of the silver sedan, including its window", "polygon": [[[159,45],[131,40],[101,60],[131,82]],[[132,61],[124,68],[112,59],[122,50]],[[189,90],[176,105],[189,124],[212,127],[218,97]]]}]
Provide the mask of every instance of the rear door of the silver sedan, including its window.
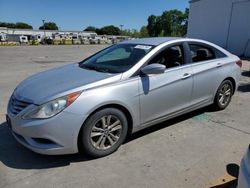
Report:
[{"label": "rear door of the silver sedan, including its window", "polygon": [[[188,43],[193,69],[193,92],[191,105],[212,102],[225,73],[223,57],[219,50],[202,43]],[[222,60],[222,61],[221,61]]]}]

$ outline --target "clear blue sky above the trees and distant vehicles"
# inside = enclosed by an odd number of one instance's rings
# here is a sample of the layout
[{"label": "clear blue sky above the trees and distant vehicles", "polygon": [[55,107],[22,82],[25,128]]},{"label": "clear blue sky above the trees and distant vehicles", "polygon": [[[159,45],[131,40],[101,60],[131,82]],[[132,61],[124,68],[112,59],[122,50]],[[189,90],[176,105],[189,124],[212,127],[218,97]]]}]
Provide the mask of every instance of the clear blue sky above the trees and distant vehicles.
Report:
[{"label": "clear blue sky above the trees and distant vehicles", "polygon": [[55,22],[60,30],[87,26],[140,29],[151,14],[188,8],[188,0],[0,0],[0,22],[25,22],[38,29]]}]

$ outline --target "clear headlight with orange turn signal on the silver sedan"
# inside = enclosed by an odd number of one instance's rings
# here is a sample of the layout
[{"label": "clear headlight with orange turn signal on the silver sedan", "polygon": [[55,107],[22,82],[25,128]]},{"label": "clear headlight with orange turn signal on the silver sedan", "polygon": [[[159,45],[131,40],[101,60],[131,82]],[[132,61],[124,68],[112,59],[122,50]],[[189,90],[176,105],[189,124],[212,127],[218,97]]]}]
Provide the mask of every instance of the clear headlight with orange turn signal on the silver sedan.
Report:
[{"label": "clear headlight with orange turn signal on the silver sedan", "polygon": [[63,111],[66,107],[71,105],[81,92],[71,93],[67,96],[60,97],[53,101],[47,102],[41,106],[36,107],[31,112],[23,115],[23,119],[47,119],[55,116]]}]

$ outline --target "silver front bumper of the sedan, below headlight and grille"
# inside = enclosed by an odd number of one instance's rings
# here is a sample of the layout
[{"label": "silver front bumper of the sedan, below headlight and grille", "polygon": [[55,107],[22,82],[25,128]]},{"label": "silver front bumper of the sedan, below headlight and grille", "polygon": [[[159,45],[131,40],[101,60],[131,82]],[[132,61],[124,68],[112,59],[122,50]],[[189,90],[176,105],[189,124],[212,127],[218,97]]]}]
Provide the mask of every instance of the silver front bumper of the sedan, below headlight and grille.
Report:
[{"label": "silver front bumper of the sedan, below headlight and grille", "polygon": [[63,111],[49,119],[23,120],[22,115],[30,108],[32,105],[16,116],[8,112],[11,132],[19,143],[40,154],[78,152],[78,134],[83,122],[81,115]]}]

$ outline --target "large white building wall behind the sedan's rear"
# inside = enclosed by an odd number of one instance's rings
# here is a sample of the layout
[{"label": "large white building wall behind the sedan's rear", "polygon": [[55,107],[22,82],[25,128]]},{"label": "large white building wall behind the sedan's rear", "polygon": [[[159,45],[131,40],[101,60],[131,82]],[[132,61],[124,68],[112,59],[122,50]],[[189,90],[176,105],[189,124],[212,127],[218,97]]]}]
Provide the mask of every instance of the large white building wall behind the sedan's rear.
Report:
[{"label": "large white building wall behind the sedan's rear", "polygon": [[250,57],[250,0],[191,0],[187,36]]}]

